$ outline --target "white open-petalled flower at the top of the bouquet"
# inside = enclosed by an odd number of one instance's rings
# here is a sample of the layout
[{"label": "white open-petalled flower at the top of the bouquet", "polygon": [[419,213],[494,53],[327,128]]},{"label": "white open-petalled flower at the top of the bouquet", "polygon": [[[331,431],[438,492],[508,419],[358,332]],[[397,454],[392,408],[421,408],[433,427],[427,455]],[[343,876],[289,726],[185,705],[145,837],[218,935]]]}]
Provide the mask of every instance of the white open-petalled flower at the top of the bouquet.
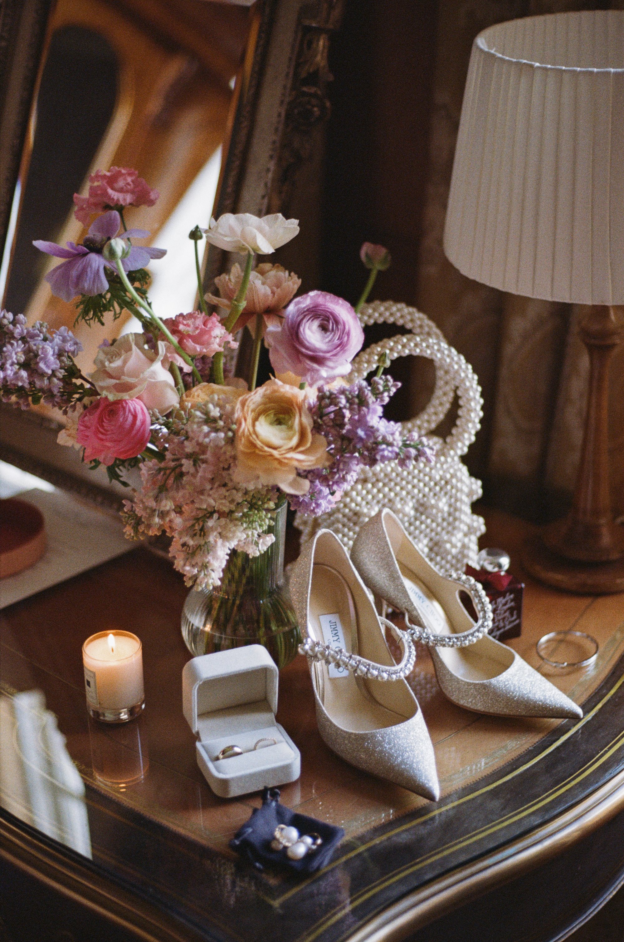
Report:
[{"label": "white open-petalled flower at the top of the bouquet", "polygon": [[284,219],[281,213],[252,216],[250,213],[224,213],[211,219],[202,232],[208,242],[226,252],[257,252],[269,255],[290,242],[299,232],[298,219]]}]

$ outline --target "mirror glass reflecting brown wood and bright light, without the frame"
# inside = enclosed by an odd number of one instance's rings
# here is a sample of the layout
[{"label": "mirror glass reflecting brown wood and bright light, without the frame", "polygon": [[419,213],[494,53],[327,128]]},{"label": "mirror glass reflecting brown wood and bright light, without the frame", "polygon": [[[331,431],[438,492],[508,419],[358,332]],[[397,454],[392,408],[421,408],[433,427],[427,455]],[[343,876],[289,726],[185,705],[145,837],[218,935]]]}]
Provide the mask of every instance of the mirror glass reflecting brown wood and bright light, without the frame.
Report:
[{"label": "mirror glass reflecting brown wood and bright light, without the frame", "polygon": [[[125,218],[129,228],[150,229],[147,244],[168,250],[152,267],[152,300],[171,316],[193,306],[192,245],[181,235],[210,219],[251,14],[219,3],[144,6],[56,5],[5,297],[8,310],[31,322],[72,327],[72,303],[43,280],[57,260],[32,241],[82,241],[85,228],[68,212],[73,193],[87,193],[96,169],[116,166],[135,168],[160,194],[155,206],[129,207]],[[96,330],[78,326],[78,364],[92,363],[104,337],[132,329],[127,312]]]}]

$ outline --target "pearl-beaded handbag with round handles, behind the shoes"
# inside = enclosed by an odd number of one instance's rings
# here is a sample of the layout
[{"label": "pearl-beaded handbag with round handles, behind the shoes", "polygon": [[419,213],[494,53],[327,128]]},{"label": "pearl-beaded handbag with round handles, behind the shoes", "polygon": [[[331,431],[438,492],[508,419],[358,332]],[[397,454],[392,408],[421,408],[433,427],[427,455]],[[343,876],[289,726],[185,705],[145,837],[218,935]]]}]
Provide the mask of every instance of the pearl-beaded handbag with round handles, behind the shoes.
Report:
[{"label": "pearl-beaded handbag with round handles, behind the shoes", "polygon": [[[447,344],[433,321],[407,304],[373,301],[360,312],[362,325],[388,323],[407,327],[398,334],[363,350],[353,361],[346,382],[355,382],[376,368],[387,350],[391,360],[401,356],[423,356],[436,365],[433,395],[421,414],[403,423],[406,433],[426,436],[436,446],[432,464],[418,462],[400,468],[397,462],[363,468],[360,478],[344,491],[337,506],[320,517],[296,514],[301,543],[316,530],[328,528],[351,548],[361,525],[382,507],[390,508],[441,573],[463,573],[466,564],[476,564],[477,539],[485,532],[483,517],[472,513],[472,501],[481,496],[481,482],[472,478],[461,456],[479,429],[483,399],[472,367]],[[457,395],[456,425],[445,439],[431,434],[451,408]]]}]

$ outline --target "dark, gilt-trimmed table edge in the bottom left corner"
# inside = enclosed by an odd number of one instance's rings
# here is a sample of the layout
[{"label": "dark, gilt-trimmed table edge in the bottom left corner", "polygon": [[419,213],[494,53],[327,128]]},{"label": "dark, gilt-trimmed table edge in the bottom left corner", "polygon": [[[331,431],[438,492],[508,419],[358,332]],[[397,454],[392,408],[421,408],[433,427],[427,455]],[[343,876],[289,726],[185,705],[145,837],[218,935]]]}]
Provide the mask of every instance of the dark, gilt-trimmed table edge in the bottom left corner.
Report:
[{"label": "dark, gilt-trimmed table edge in the bottom left corner", "polygon": [[[169,916],[161,906],[145,901],[89,866],[77,853],[54,846],[44,836],[9,820],[0,809],[0,861],[39,880],[93,915],[107,918],[145,942],[205,942],[184,920]],[[206,927],[208,928],[208,927]],[[214,935],[215,939],[217,935]]]}]

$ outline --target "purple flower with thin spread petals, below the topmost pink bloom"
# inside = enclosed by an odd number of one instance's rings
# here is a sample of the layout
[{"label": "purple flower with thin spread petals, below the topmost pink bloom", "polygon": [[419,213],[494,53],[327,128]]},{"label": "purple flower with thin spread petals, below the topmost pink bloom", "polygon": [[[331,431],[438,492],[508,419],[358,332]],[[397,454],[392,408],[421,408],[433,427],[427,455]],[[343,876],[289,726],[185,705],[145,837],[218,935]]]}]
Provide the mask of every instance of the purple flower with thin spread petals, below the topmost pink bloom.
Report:
[{"label": "purple flower with thin spread petals, below the topmost pink bloom", "polygon": [[[33,242],[33,245],[41,252],[66,259],[45,276],[46,282],[50,284],[52,293],[57,298],[70,301],[76,295],[97,295],[106,291],[108,281],[104,268],[110,268],[113,271],[116,268],[112,262],[104,258],[104,246],[118,235],[120,228],[120,214],[113,209],[91,223],[83,245],[68,242],[67,248],[64,249],[61,245],[56,245],[56,242],[48,242],[44,239],[36,239]],[[128,229],[120,237],[129,240],[131,237],[145,238],[147,235],[150,233],[145,229]],[[139,247],[131,245],[130,242],[128,245],[130,251],[121,260],[124,271],[145,268],[152,258],[162,258],[167,252],[166,249]]]}]

